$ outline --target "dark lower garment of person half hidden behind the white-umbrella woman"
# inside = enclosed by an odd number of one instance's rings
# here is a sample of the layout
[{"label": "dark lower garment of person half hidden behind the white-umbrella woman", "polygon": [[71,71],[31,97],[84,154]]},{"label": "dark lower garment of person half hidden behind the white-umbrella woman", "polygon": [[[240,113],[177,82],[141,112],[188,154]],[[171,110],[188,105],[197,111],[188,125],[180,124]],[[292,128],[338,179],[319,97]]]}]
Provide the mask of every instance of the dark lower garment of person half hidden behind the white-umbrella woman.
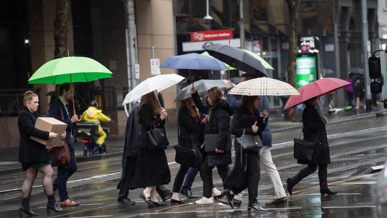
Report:
[{"label": "dark lower garment of person half hidden behind the white-umbrella woman", "polygon": [[139,187],[135,185],[135,170],[136,170],[136,161],[137,154],[133,156],[125,157],[125,165],[121,174],[121,181],[117,185],[117,189],[127,188],[130,190],[137,188],[145,188]]}]

